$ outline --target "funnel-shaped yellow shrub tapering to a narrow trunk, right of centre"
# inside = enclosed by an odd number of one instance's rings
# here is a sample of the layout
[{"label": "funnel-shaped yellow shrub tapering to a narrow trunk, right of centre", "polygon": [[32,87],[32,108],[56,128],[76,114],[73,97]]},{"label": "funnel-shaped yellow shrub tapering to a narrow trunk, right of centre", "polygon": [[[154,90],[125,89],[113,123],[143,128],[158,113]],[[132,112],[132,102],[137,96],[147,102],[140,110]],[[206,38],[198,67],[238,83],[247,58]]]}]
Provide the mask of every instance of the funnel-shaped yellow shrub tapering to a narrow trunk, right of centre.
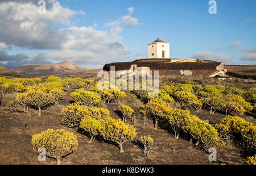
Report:
[{"label": "funnel-shaped yellow shrub tapering to a narrow trunk, right of centre", "polygon": [[171,124],[171,128],[175,132],[174,137],[176,139],[179,139],[180,130],[184,125],[184,119],[188,118],[189,115],[190,111],[180,110],[177,108],[167,108],[166,111],[164,112],[164,118],[167,119],[168,122]]}]

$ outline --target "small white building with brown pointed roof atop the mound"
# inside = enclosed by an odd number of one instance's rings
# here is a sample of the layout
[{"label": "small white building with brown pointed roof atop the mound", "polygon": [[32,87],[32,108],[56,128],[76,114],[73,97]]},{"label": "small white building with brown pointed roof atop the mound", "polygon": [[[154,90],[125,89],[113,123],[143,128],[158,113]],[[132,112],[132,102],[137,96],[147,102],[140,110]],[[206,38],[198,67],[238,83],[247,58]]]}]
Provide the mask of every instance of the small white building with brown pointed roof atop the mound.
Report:
[{"label": "small white building with brown pointed roof atop the mound", "polygon": [[148,58],[170,58],[170,43],[158,38],[148,44]]}]

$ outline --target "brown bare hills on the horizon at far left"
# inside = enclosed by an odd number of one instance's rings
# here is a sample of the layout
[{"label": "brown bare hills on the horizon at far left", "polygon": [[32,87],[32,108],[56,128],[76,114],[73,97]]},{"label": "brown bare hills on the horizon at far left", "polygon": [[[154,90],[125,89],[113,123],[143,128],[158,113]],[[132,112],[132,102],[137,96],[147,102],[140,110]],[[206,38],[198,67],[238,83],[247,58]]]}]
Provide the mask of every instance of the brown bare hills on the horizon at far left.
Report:
[{"label": "brown bare hills on the horizon at far left", "polygon": [[70,61],[63,61],[56,64],[24,64],[13,69],[15,72],[26,76],[48,76],[48,75],[72,75],[72,74],[95,74],[97,69],[86,69],[73,64]]}]

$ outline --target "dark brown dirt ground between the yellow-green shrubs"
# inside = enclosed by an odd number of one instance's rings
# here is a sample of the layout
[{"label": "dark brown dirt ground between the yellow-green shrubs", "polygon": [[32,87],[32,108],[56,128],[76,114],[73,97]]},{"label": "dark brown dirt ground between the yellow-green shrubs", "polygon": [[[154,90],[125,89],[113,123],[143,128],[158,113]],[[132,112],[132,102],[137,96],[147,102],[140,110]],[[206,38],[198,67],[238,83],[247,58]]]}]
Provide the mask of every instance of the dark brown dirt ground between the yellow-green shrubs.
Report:
[{"label": "dark brown dirt ground between the yellow-green shrubs", "polygon": [[[208,165],[209,154],[184,137],[175,139],[172,133],[166,129],[154,129],[152,121],[147,120],[146,125],[142,121],[134,126],[137,128],[137,136],[133,141],[128,141],[123,145],[124,153],[119,153],[119,148],[113,143],[109,143],[99,137],[89,144],[89,137],[78,132],[75,128],[67,128],[61,125],[61,110],[67,106],[72,99],[67,94],[64,100],[59,100],[54,106],[42,110],[39,117],[38,111],[30,109],[31,116],[23,112],[15,112],[7,106],[0,107],[0,164],[56,164],[56,160],[48,158],[46,162],[38,161],[38,154],[33,150],[31,144],[32,135],[47,130],[48,128],[65,128],[74,132],[79,140],[77,150],[61,159],[61,164],[156,164],[156,165]],[[120,118],[115,110],[118,104],[104,104],[110,111],[112,118]],[[134,109],[139,106],[133,106]],[[211,123],[220,123],[222,114],[202,115],[194,113],[203,120]],[[255,119],[247,117],[255,124]],[[161,125],[159,125],[161,126]],[[154,139],[154,147],[150,154],[144,156],[138,147],[138,140],[141,136],[150,135]],[[217,150],[218,162],[225,164],[245,164],[246,156],[243,149],[234,145],[226,145]]]}]

